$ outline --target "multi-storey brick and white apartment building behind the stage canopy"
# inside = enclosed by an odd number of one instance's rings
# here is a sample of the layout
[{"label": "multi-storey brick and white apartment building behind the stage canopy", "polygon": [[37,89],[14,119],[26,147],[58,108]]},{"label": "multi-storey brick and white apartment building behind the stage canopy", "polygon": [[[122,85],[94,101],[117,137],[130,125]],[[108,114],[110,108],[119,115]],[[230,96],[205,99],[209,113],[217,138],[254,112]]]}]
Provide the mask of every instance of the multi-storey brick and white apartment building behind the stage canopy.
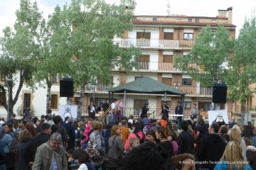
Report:
[{"label": "multi-storey brick and white apartment building behind the stage canopy", "polygon": [[[113,70],[111,84],[102,84],[99,80],[97,84],[87,84],[85,91],[85,103],[95,100],[96,105],[100,105],[108,97],[107,90],[113,86],[129,83],[142,77],[151,77],[157,81],[168,84],[176,89],[186,92],[184,98],[185,118],[188,118],[189,111],[193,103],[197,103],[202,110],[203,117],[207,118],[207,111],[213,109],[225,109],[230,113],[233,103],[215,103],[212,106],[212,90],[200,86],[200,82],[191,80],[188,74],[183,74],[181,70],[174,67],[174,57],[181,55],[186,57],[193,47],[195,38],[201,32],[201,28],[210,25],[213,32],[219,24],[223,24],[230,33],[230,38],[235,37],[235,25],[232,23],[232,10],[218,10],[218,16],[133,16],[134,28],[126,31],[123,38],[114,40],[120,47],[140,47],[142,55],[137,60],[139,70],[132,72],[119,72]],[[191,67],[198,68],[196,64]],[[199,69],[199,68],[198,68]],[[114,94],[114,98],[123,94]],[[171,106],[171,113],[174,113],[177,101],[181,101],[181,96],[167,96],[168,105]],[[163,95],[150,94],[127,94],[125,101],[125,115],[137,115],[148,101],[155,116],[161,113],[161,106],[164,101]],[[86,109],[84,109],[86,110]]]}]

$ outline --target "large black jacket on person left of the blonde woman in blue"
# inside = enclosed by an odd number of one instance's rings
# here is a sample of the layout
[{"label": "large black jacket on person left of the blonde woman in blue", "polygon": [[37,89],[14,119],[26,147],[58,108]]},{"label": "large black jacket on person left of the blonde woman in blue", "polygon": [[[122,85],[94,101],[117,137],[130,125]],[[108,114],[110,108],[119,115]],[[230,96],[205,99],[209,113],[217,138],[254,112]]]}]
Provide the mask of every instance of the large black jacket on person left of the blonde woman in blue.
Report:
[{"label": "large black jacket on person left of the blonde woman in blue", "polygon": [[214,169],[215,164],[210,162],[218,162],[225,150],[225,142],[218,134],[209,134],[203,138],[198,148],[198,159],[206,164],[201,164],[201,168]]}]

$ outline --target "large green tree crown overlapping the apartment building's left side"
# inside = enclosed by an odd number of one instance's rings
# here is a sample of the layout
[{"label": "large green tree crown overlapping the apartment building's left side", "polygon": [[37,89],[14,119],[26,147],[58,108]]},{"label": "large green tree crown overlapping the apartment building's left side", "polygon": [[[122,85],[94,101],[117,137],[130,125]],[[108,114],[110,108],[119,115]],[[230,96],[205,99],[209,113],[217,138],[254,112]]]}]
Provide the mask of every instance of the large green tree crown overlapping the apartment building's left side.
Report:
[{"label": "large green tree crown overlapping the apartment building's left side", "polygon": [[102,0],[72,1],[68,8],[74,29],[70,42],[78,60],[70,65],[70,70],[77,84],[108,79],[113,69],[129,71],[137,67],[140,51],[135,47],[122,49],[113,43],[114,38],[122,37],[124,30],[132,29],[134,6],[132,0],[118,5]]}]

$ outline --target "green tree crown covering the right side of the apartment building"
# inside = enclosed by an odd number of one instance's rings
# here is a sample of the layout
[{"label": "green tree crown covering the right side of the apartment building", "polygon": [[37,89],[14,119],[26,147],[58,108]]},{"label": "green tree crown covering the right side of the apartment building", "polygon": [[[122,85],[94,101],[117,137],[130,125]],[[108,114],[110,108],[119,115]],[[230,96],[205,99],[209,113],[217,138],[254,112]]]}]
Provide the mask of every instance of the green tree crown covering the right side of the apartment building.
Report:
[{"label": "green tree crown covering the right side of the apartment building", "polygon": [[[210,26],[202,28],[192,50],[186,57],[175,57],[174,67],[182,69],[193,80],[200,81],[203,87],[212,87],[215,79],[223,80],[233,42],[229,40],[228,30],[218,26],[213,34]],[[191,67],[191,65],[197,67]]]}]

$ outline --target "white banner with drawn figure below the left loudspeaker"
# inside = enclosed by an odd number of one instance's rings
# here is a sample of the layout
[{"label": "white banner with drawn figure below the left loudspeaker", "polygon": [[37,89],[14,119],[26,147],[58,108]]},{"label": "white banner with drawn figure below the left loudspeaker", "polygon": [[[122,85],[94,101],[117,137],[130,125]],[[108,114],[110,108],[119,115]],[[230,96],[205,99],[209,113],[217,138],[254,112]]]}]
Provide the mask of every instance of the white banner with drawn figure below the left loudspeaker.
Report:
[{"label": "white banner with drawn figure below the left loudspeaker", "polygon": [[59,114],[61,118],[73,117],[77,118],[78,115],[78,106],[77,105],[60,105]]}]

